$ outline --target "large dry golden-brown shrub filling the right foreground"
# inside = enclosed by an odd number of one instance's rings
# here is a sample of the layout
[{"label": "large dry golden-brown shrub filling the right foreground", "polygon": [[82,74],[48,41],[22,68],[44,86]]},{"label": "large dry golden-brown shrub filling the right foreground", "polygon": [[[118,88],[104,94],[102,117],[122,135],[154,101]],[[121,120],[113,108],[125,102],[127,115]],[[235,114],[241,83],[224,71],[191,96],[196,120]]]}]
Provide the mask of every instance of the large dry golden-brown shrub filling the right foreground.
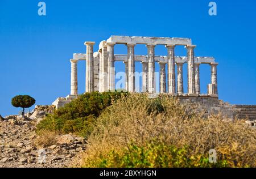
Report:
[{"label": "large dry golden-brown shrub filling the right foreground", "polygon": [[195,114],[165,95],[160,97],[164,110],[159,113],[149,110],[155,100],[159,99],[137,94],[107,108],[89,137],[83,166],[92,167],[89,161],[96,161],[112,150],[129,148],[131,143],[147,146],[156,141],[179,148],[188,146],[189,155],[209,155],[209,150],[215,149],[217,159],[226,160],[229,167],[256,167],[256,132],[243,121],[227,122],[220,115],[205,119],[203,114]]}]

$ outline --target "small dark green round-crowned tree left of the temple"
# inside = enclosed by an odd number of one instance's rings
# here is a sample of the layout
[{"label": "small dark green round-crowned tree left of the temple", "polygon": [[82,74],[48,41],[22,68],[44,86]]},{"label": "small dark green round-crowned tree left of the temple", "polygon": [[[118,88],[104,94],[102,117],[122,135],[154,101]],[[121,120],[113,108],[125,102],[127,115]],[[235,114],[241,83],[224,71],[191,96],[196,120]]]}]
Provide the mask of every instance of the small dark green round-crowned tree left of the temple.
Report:
[{"label": "small dark green round-crowned tree left of the temple", "polygon": [[18,95],[11,99],[11,104],[16,108],[23,108],[22,116],[24,115],[25,108],[30,108],[35,104],[35,99],[28,95]]}]

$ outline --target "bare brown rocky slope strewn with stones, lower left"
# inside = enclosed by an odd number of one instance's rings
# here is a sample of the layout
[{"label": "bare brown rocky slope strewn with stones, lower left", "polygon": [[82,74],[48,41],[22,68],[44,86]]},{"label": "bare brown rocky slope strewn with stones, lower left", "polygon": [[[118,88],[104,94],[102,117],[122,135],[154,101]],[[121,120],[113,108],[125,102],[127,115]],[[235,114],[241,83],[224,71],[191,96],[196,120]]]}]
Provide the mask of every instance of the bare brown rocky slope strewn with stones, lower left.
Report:
[{"label": "bare brown rocky slope strewn with stones, lower left", "polygon": [[13,115],[0,121],[0,167],[72,167],[81,158],[84,139],[72,134],[60,135],[52,146],[37,146],[36,118]]}]

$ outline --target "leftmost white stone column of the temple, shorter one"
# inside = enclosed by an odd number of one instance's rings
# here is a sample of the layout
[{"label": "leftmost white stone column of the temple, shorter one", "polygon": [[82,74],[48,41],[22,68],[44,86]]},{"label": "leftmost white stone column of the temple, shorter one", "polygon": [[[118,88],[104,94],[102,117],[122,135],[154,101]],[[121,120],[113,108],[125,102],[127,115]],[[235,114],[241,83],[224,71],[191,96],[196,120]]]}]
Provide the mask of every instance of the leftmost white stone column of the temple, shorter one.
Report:
[{"label": "leftmost white stone column of the temple, shorter one", "polygon": [[77,95],[77,59],[71,59],[71,95]]}]

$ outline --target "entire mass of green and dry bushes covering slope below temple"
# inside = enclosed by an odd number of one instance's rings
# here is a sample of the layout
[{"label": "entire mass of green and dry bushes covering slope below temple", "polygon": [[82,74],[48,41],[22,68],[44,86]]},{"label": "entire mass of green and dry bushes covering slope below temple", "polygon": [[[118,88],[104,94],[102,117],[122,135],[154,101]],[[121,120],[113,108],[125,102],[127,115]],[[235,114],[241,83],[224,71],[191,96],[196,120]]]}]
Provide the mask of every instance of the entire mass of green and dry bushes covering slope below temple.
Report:
[{"label": "entire mass of green and dry bushes covering slope below temple", "polygon": [[[99,96],[82,95],[38,126],[88,137],[81,167],[256,167],[255,130],[243,121],[204,118],[166,95]],[[217,163],[208,160],[212,149]]]}]

